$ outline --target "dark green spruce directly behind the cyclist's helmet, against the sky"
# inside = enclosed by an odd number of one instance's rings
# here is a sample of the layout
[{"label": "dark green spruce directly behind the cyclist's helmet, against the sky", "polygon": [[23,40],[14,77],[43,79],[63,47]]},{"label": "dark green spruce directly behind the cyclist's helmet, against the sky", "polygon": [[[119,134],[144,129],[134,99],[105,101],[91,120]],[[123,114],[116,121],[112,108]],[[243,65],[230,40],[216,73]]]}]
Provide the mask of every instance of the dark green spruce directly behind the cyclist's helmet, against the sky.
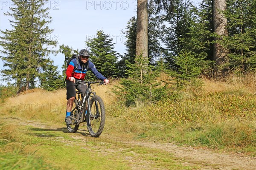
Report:
[{"label": "dark green spruce directly behind the cyclist's helmet, against the sky", "polygon": [[86,45],[90,49],[90,60],[97,70],[105,77],[116,77],[116,62],[119,53],[114,51],[113,38],[103,31],[97,31],[97,37],[90,39]]}]

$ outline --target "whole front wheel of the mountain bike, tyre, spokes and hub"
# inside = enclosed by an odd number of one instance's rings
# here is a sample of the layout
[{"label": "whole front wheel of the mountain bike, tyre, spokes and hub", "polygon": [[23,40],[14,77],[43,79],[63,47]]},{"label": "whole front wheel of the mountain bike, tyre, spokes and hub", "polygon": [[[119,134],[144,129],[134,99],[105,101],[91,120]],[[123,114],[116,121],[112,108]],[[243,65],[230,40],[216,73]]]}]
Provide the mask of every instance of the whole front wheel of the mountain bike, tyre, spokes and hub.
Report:
[{"label": "whole front wheel of the mountain bike, tyre, spokes and hub", "polygon": [[105,106],[99,96],[90,99],[90,113],[86,115],[86,122],[90,135],[99,137],[105,125]]}]

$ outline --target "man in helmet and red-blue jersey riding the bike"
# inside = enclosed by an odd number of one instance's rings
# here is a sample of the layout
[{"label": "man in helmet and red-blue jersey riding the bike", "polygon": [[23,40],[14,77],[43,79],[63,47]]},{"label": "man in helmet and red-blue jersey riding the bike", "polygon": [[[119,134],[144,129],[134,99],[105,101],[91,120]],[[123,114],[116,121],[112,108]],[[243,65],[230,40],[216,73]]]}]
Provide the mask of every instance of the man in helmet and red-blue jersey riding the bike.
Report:
[{"label": "man in helmet and red-blue jersey riding the bike", "polygon": [[74,100],[76,99],[76,89],[81,91],[82,94],[85,93],[87,86],[81,83],[76,83],[76,80],[84,80],[87,71],[92,71],[94,76],[98,79],[105,81],[105,84],[109,83],[109,80],[102,76],[102,74],[97,71],[93,62],[89,60],[90,51],[87,49],[82,49],[79,51],[79,59],[72,59],[67,66],[67,112],[65,122],[67,124],[72,124],[70,113],[73,107]]}]

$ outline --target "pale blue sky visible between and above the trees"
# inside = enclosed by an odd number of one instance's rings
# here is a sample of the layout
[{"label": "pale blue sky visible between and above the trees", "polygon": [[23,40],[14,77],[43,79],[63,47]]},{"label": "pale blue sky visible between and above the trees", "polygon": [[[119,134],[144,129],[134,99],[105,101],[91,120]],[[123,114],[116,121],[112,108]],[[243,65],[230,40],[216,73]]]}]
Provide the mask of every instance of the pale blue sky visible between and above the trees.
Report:
[{"label": "pale blue sky visible between and above the trees", "polygon": [[[103,30],[114,38],[115,51],[123,54],[126,48],[121,30],[125,30],[128,20],[136,16],[136,5],[137,0],[50,0],[45,5],[49,7],[52,17],[49,27],[54,29],[49,38],[57,39],[58,46],[64,44],[73,49],[82,49],[86,48],[85,41],[88,38],[95,37],[97,30]],[[10,6],[13,6],[12,1],[0,0],[1,30],[12,29],[9,23],[11,18],[3,15],[10,11]],[[57,54],[50,58],[61,70],[64,55]],[[3,69],[2,61],[0,69]]]}]

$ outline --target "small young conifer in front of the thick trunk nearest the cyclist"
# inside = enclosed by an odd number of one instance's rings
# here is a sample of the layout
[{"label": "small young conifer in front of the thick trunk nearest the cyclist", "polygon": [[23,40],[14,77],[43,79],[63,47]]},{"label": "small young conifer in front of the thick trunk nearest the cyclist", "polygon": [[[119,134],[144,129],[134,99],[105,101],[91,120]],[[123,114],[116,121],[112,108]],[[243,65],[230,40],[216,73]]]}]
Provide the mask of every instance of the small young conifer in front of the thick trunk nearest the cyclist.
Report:
[{"label": "small young conifer in front of the thick trunk nearest the cyclist", "polygon": [[[121,79],[119,91],[116,91],[116,94],[125,100],[126,105],[145,101],[155,102],[167,96],[168,89],[164,85],[159,86],[160,82],[157,81],[160,72],[155,66],[148,65],[148,61],[142,55],[136,56],[135,63],[128,63],[127,67],[129,76]],[[145,67],[147,74],[143,73]]]}]

